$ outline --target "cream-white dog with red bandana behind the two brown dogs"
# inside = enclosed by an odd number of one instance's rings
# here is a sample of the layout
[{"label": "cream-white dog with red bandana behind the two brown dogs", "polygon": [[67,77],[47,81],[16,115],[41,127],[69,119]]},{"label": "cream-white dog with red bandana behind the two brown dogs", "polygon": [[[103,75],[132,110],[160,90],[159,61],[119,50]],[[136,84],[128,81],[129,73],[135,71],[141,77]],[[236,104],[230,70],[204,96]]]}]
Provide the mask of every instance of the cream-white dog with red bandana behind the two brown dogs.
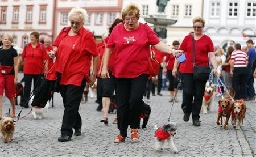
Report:
[{"label": "cream-white dog with red bandana behind the two brown dogs", "polygon": [[207,114],[207,111],[212,108],[212,101],[215,97],[215,86],[214,84],[210,84],[209,81],[205,83],[205,91],[204,91],[204,97],[202,101],[202,111],[204,114]]}]

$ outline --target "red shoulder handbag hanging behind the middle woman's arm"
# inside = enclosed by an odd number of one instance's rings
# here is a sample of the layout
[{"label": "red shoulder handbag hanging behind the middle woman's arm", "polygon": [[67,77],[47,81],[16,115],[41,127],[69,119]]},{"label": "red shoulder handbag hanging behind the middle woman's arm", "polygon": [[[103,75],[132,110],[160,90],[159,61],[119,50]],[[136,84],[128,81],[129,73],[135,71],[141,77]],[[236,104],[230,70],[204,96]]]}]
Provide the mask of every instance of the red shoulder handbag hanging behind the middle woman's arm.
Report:
[{"label": "red shoulder handbag hanging behind the middle woman's arm", "polygon": [[148,70],[150,72],[150,75],[152,77],[155,77],[159,73],[160,63],[155,58],[154,52],[152,50],[152,46],[151,46],[151,52],[152,52],[152,58],[151,57],[148,58]]}]

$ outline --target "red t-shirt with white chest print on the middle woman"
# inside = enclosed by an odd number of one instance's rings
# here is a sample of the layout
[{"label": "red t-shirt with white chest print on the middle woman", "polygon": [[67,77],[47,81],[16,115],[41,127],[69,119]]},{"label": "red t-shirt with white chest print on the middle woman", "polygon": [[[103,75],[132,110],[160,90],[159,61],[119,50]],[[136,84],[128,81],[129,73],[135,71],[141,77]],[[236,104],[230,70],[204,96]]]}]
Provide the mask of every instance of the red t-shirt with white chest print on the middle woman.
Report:
[{"label": "red t-shirt with white chest print on the middle woman", "polygon": [[123,23],[114,27],[107,48],[114,49],[113,75],[117,78],[135,78],[141,74],[149,74],[149,45],[160,41],[155,32],[147,24],[139,24],[134,31],[127,31]]}]

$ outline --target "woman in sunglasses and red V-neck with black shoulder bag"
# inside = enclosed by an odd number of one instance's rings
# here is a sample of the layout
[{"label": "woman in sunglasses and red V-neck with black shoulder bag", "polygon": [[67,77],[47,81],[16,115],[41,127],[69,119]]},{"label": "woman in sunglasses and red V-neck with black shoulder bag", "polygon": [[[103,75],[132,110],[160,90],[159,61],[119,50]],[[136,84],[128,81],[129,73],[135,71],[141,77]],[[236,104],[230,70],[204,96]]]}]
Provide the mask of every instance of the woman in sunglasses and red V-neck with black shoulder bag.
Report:
[{"label": "woman in sunglasses and red V-neck with black shoulder bag", "polygon": [[[214,54],[214,48],[212,40],[209,36],[204,35],[205,20],[201,17],[193,19],[194,39],[195,39],[195,64],[196,66],[209,66],[209,58],[214,67],[214,74],[217,75],[217,63]],[[180,50],[184,50],[187,60],[181,64],[180,72],[183,73],[184,92],[185,92],[185,111],[184,121],[189,121],[190,114],[192,113],[193,125],[200,126],[200,110],[204,95],[204,88],[207,79],[193,79],[193,40],[192,34],[182,41]],[[209,58],[208,58],[209,56]],[[177,60],[175,60],[177,62]],[[177,63],[174,64],[172,75],[177,75]]]}]

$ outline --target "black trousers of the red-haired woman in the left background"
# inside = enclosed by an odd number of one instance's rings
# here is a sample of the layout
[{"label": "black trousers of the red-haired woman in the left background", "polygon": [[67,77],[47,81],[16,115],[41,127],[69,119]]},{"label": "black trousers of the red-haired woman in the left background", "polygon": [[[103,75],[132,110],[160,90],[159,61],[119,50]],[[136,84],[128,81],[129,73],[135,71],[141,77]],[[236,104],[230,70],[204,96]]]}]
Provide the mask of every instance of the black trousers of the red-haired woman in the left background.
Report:
[{"label": "black trousers of the red-haired woman in the left background", "polygon": [[[43,77],[43,75],[30,75],[30,74],[24,74],[24,82],[25,82],[25,86],[24,86],[24,95],[22,97],[22,104],[26,105],[24,103],[26,103],[26,101],[30,98],[30,92],[31,92],[31,85],[32,85],[32,80],[33,80],[33,84],[34,84],[34,88],[36,85],[36,81],[38,80],[38,84],[40,84],[40,77]],[[38,86],[38,85],[37,85]]]}]

